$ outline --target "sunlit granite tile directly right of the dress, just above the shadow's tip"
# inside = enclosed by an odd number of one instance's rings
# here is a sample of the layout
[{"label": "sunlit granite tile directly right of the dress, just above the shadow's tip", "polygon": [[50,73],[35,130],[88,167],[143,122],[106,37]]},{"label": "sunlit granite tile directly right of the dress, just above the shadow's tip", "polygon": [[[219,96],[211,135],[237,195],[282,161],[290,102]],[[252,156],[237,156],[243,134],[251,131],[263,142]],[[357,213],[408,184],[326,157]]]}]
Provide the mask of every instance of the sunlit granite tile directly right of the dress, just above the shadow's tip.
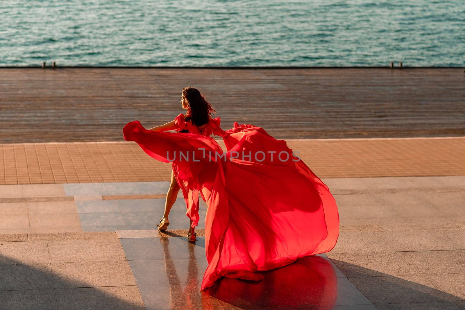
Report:
[{"label": "sunlit granite tile directly right of the dress, just above the shadow's tip", "polygon": [[[329,253],[389,252],[391,248],[374,231],[340,232],[336,246]],[[383,233],[380,232],[380,233]]]}]

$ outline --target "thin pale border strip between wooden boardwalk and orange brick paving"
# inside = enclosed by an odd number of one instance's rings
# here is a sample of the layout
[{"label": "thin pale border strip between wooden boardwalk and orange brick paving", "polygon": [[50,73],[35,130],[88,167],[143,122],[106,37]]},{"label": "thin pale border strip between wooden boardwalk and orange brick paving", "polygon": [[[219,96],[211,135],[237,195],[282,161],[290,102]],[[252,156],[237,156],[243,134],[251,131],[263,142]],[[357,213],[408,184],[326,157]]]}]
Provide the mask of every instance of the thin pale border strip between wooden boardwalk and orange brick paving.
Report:
[{"label": "thin pale border strip between wooden boardwalk and orange brick paving", "polygon": [[[213,137],[212,137],[213,138]],[[213,138],[214,140],[220,140]],[[427,140],[427,139],[465,139],[465,136],[446,137],[393,137],[393,138],[329,138],[329,139],[277,139],[286,141],[372,141],[372,140]],[[33,145],[33,144],[83,144],[83,143],[128,143],[132,141],[71,141],[71,142],[27,142],[27,143],[3,143],[2,145]]]}]

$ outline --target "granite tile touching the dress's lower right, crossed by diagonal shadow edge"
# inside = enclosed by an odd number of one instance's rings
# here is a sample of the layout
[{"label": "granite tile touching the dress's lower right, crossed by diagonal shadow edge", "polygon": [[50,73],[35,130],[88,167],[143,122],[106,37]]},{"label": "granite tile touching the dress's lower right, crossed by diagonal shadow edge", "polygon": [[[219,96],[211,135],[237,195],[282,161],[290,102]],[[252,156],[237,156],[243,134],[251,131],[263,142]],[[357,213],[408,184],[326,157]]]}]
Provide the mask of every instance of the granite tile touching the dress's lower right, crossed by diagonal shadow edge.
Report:
[{"label": "granite tile touching the dress's lower right, crossed by diagonal shadow edge", "polygon": [[417,270],[403,260],[404,253],[345,253],[327,257],[349,278],[415,274]]}]

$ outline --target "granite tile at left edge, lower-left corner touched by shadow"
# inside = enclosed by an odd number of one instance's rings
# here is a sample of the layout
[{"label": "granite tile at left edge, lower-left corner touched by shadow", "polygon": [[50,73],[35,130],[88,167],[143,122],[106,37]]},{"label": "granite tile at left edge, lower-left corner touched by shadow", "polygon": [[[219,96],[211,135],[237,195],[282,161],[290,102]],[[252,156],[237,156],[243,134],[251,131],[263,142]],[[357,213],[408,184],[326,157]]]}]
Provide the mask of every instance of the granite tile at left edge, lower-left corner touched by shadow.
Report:
[{"label": "granite tile at left edge, lower-left corner touched by shadow", "polygon": [[0,264],[49,263],[46,241],[1,242]]}]

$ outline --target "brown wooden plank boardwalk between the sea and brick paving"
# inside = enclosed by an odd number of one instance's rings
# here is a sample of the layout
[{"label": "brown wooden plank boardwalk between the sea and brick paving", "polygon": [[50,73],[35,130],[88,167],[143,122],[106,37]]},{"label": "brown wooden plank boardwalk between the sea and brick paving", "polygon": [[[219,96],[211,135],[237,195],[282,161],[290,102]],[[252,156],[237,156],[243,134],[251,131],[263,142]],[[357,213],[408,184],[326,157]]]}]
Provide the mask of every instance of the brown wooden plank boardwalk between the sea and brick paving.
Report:
[{"label": "brown wooden plank boardwalk between the sea and brick paving", "polygon": [[279,139],[465,136],[463,69],[2,68],[0,143],[121,141],[198,87],[222,119]]}]

